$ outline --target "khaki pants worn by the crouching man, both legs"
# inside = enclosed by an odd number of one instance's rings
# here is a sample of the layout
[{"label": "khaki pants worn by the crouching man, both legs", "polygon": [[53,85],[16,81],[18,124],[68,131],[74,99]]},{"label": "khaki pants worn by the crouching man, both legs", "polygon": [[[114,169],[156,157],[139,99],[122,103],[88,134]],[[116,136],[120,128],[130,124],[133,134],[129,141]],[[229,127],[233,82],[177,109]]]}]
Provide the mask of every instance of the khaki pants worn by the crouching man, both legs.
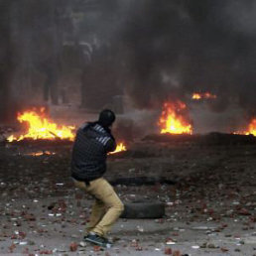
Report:
[{"label": "khaki pants worn by the crouching man, both legs", "polygon": [[112,186],[103,178],[90,182],[89,186],[78,181],[74,181],[74,185],[95,197],[87,231],[106,236],[124,209],[122,201]]}]

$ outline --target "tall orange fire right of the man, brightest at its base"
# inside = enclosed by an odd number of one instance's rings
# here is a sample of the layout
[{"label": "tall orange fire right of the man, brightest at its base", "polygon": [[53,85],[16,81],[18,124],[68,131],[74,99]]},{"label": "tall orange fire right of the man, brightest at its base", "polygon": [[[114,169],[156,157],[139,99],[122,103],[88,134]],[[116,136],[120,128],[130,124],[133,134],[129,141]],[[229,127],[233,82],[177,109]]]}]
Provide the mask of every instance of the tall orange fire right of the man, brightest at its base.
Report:
[{"label": "tall orange fire right of the man, brightest at its base", "polygon": [[185,111],[187,105],[180,100],[166,102],[159,120],[161,133],[192,134],[192,124],[183,115]]}]

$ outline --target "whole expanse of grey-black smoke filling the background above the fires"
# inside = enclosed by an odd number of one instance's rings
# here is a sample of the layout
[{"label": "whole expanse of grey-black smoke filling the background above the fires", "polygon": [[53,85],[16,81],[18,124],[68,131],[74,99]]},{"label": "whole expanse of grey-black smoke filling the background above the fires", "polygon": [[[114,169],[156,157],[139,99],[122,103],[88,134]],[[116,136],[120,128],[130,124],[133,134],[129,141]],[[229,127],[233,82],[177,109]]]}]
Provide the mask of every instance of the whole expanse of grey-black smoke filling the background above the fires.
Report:
[{"label": "whole expanse of grey-black smoke filling the background above the fires", "polygon": [[128,94],[139,109],[211,91],[255,115],[253,0],[0,0],[0,112],[68,95],[100,109]]}]

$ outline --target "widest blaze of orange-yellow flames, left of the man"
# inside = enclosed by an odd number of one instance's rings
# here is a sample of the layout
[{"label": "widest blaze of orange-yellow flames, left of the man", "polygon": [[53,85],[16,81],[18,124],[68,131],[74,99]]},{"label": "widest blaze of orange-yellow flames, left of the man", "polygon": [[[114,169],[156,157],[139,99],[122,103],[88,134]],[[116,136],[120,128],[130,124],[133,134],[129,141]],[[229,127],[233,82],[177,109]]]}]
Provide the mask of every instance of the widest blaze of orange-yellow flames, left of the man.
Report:
[{"label": "widest blaze of orange-yellow flames, left of the man", "polygon": [[73,126],[58,126],[46,116],[46,109],[42,107],[39,111],[36,109],[18,113],[18,121],[20,123],[27,122],[29,125],[28,132],[19,137],[11,135],[7,138],[9,142],[21,141],[24,139],[65,139],[73,140]]}]

